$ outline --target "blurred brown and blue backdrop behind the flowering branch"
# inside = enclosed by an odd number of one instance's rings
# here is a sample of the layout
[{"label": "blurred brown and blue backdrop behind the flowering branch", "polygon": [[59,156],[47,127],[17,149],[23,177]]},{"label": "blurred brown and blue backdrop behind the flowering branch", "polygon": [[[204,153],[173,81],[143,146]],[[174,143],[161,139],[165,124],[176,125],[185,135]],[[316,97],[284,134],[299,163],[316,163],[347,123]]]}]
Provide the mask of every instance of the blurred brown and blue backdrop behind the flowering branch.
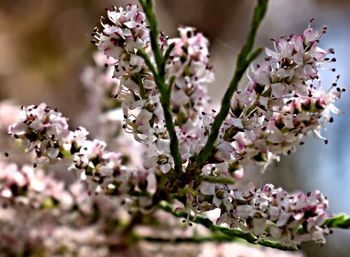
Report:
[{"label": "blurred brown and blue backdrop behind the flowering branch", "polygon": [[[0,0],[0,100],[16,99],[21,105],[44,101],[58,107],[74,124],[87,104],[80,75],[84,66],[91,63],[95,49],[90,34],[105,8],[126,3],[133,1]],[[254,4],[253,0],[156,1],[161,29],[166,34],[176,35],[178,25],[189,25],[210,39],[216,82],[209,92],[216,102],[230,80]],[[321,46],[336,49],[336,74],[341,74],[340,85],[350,89],[349,12],[350,1],[346,0],[270,0],[256,44],[272,47],[271,38],[301,33],[315,18],[315,27],[329,28]],[[325,81],[332,81],[336,74],[325,72]],[[296,154],[282,158],[263,176],[255,174],[255,183],[272,182],[289,191],[319,189],[328,196],[332,212],[350,213],[347,94],[338,104],[345,114],[335,117],[324,133],[329,139],[327,146],[309,138]],[[304,252],[310,257],[348,257],[349,240],[350,231],[338,230],[328,238],[326,246],[307,244]]]}]

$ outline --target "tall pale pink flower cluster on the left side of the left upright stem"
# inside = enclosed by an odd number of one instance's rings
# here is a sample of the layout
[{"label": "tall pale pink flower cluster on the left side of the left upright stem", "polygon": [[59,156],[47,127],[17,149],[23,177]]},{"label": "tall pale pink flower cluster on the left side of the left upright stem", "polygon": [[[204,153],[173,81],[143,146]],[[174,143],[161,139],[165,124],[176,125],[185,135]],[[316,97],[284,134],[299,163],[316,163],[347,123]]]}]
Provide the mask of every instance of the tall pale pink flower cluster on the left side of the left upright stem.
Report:
[{"label": "tall pale pink flower cluster on the left side of the left upright stem", "polygon": [[[112,63],[114,76],[120,80],[115,98],[123,103],[124,128],[127,132],[133,133],[137,141],[153,147],[154,153],[157,150],[161,152],[156,162],[164,159],[163,163],[166,165],[160,167],[167,172],[172,166],[172,157],[168,149],[162,151],[155,147],[157,136],[154,136],[164,134],[167,138],[167,131],[163,129],[164,123],[157,127],[159,129],[153,129],[156,127],[154,123],[161,123],[164,120],[159,92],[143,59],[137,55],[139,49],[149,51],[149,30],[145,23],[145,15],[137,6],[128,5],[126,10],[122,8],[108,10],[107,16],[111,24],[102,22],[104,29],[102,32],[96,31],[95,39],[98,48],[108,58],[114,60]],[[123,43],[116,43],[119,41]],[[150,169],[153,167],[153,162],[144,166]]]}]

